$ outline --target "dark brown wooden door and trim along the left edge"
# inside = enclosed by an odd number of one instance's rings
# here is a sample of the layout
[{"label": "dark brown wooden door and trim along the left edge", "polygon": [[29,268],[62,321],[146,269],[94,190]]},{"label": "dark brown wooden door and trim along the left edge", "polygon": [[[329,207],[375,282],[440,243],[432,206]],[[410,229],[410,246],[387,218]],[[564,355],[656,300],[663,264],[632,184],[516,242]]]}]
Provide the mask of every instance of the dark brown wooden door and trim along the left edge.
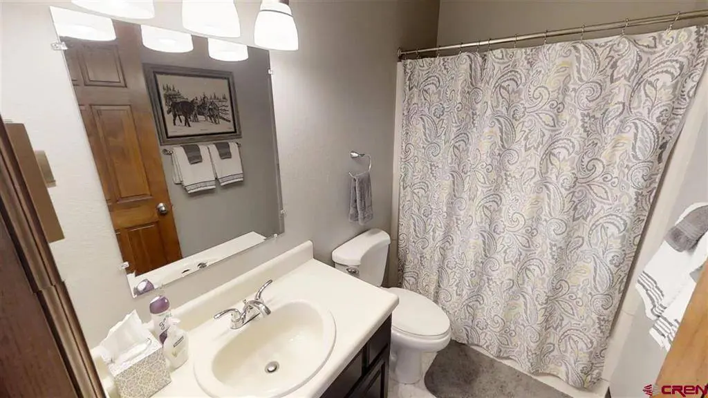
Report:
[{"label": "dark brown wooden door and trim along the left edge", "polygon": [[38,212],[52,204],[28,181],[29,146],[0,119],[0,397],[103,397]]}]

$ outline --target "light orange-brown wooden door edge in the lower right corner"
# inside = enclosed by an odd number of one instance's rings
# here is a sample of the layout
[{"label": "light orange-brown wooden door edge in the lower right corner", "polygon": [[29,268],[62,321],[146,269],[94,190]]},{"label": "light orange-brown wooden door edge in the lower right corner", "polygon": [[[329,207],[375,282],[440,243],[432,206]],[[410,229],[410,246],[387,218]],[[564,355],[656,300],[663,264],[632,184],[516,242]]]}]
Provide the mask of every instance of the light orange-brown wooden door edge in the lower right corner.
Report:
[{"label": "light orange-brown wooden door edge in the lower right corner", "polygon": [[708,386],[708,261],[703,266],[656,385],[700,386],[703,392]]}]

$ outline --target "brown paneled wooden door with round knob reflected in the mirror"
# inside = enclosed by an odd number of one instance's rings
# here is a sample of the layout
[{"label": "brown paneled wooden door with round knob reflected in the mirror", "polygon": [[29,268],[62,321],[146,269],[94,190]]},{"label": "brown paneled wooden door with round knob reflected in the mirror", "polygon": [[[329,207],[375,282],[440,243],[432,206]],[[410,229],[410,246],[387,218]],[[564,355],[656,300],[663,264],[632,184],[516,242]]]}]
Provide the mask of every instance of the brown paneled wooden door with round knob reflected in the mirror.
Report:
[{"label": "brown paneled wooden door with round knob reflected in the mirror", "polygon": [[[137,274],[182,257],[140,62],[137,26],[116,40],[63,38],[76,99],[123,261]],[[166,214],[160,214],[162,203]]]}]

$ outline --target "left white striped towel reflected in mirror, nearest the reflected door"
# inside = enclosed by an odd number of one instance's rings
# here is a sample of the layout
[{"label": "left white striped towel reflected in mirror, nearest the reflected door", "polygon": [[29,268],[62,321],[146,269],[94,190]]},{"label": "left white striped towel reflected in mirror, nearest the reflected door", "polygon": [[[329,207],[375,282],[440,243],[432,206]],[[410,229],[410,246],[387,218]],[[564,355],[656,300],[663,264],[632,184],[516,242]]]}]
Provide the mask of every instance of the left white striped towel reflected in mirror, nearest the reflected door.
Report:
[{"label": "left white striped towel reflected in mirror, nearest the reflected door", "polygon": [[182,147],[172,148],[172,181],[181,183],[187,193],[206,191],[214,189],[214,171],[211,161],[209,161],[209,151],[207,147],[198,145],[202,159],[200,163],[190,164]]}]

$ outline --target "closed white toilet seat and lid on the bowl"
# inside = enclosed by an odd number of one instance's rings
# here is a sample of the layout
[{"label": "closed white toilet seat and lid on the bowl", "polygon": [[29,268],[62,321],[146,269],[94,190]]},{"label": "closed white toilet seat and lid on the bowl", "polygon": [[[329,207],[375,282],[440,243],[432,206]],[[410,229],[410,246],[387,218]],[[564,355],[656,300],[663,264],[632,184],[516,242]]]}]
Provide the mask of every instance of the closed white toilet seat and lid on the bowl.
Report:
[{"label": "closed white toilet seat and lid on the bowl", "polygon": [[392,331],[407,339],[432,340],[450,338],[450,318],[438,305],[411,290],[389,288],[399,297],[392,314]]}]

